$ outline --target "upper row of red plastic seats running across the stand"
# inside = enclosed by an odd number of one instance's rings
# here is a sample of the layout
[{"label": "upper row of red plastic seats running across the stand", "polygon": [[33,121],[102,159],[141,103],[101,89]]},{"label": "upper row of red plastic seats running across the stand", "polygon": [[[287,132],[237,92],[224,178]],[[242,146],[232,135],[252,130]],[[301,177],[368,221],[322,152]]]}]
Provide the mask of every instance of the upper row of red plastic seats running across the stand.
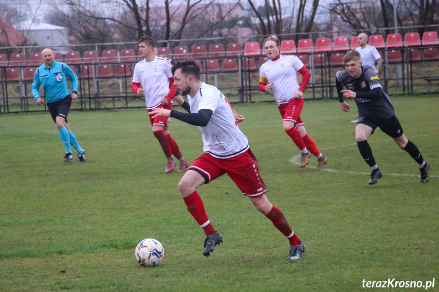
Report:
[{"label": "upper row of red plastic seats running across the stand", "polygon": [[[415,46],[434,46],[439,45],[439,39],[435,31],[427,31],[424,33],[422,42],[418,33],[407,33],[404,36],[404,41],[400,34],[390,34],[387,36],[387,41],[384,41],[383,35],[373,35],[369,38],[369,44],[377,49],[387,48],[401,48],[401,47],[415,47]],[[346,37],[339,37],[334,40],[334,44],[331,44],[329,38],[320,38],[316,40],[315,46],[311,39],[302,39],[299,41],[296,47],[295,41],[285,40],[281,43],[282,54],[296,54],[296,53],[311,53],[311,52],[328,52],[328,51],[346,51],[358,47],[357,37],[353,37],[350,44]],[[222,44],[213,44],[210,46],[209,53],[205,46],[193,46],[191,52],[187,46],[175,47],[173,54],[168,47],[158,48],[159,55],[171,59],[185,59],[189,57],[194,58],[207,58],[207,57],[225,57],[225,56],[238,56],[244,53],[244,56],[258,56],[265,55],[265,48],[260,49],[259,43],[248,42],[245,44],[244,49],[240,43],[230,43],[226,49]],[[437,49],[432,48],[427,52],[427,55],[436,56]],[[416,59],[417,57],[415,57]],[[55,59],[57,61],[63,61],[61,53],[55,52]],[[99,57],[96,50],[85,51],[84,56],[78,51],[69,52],[65,56],[65,62],[67,64],[80,64],[80,63],[114,63],[114,62],[133,62],[138,61],[139,57],[136,56],[133,49],[121,50],[120,55],[115,50],[105,50]],[[5,54],[0,54],[0,66],[39,66],[43,63],[40,53],[32,53],[28,60],[23,53],[11,55],[11,59],[7,60]]]}]

